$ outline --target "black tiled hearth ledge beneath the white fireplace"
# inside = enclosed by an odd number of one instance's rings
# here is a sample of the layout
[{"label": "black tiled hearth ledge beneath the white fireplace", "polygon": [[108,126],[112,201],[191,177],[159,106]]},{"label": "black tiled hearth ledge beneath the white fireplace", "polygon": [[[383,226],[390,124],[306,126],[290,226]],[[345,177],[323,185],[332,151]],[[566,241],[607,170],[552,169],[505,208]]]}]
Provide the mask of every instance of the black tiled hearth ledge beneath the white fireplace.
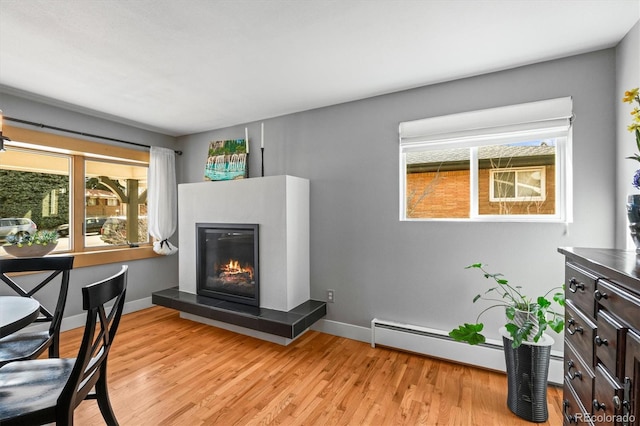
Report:
[{"label": "black tiled hearth ledge beneath the white fireplace", "polygon": [[285,312],[186,293],[178,287],[152,293],[151,301],[181,312],[289,339],[296,338],[327,314],[327,303],[318,300],[307,300]]}]

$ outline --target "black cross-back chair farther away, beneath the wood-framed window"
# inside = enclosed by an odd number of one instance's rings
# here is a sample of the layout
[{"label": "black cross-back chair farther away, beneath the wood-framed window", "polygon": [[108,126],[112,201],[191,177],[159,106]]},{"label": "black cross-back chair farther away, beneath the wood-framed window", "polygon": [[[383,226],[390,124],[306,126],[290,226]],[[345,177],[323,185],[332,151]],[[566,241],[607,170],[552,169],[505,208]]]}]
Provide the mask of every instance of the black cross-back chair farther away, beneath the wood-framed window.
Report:
[{"label": "black cross-back chair farther away, beneath the wood-framed window", "polygon": [[[49,322],[49,329],[42,331],[22,331],[0,339],[0,367],[13,361],[35,359],[45,349],[49,349],[49,357],[60,356],[60,327],[62,316],[67,303],[69,290],[69,275],[73,268],[73,256],[62,257],[33,257],[0,260],[0,280],[4,281],[18,295],[33,296],[45,286],[51,288],[59,281],[58,300],[51,313],[41,302],[40,314],[36,322]],[[8,274],[14,272],[43,272],[46,275],[31,290],[24,290],[15,278]],[[57,280],[56,278],[60,279]],[[22,284],[23,286],[25,284]]]}]

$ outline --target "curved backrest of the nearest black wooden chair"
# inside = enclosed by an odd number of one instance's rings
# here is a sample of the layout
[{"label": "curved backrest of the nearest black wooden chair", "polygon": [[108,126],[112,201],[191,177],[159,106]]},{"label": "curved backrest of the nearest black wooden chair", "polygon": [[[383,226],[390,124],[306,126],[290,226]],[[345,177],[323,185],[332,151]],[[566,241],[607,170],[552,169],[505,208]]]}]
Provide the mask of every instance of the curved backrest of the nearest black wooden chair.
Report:
[{"label": "curved backrest of the nearest black wooden chair", "polygon": [[[87,311],[87,321],[71,376],[58,399],[59,406],[77,407],[100,376],[106,379],[109,350],[124,308],[127,270],[128,266],[124,265],[116,275],[82,288],[82,307]],[[109,310],[105,304],[111,301]]]}]

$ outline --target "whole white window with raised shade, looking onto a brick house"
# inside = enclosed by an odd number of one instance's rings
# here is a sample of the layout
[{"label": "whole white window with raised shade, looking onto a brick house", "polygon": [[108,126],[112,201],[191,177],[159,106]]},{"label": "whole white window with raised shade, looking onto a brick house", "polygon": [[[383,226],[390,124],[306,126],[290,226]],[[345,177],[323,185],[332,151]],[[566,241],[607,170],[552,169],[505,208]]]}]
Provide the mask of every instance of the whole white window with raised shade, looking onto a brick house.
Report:
[{"label": "whole white window with raised shade, looking onto a brick house", "polygon": [[400,124],[400,220],[570,221],[571,98]]}]

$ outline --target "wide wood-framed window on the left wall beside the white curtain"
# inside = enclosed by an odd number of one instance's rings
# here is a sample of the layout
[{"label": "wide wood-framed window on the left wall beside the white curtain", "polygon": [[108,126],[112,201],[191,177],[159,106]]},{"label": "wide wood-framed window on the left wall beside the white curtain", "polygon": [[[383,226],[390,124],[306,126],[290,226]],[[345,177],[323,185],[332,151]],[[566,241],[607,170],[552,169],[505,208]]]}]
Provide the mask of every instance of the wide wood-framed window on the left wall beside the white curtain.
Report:
[{"label": "wide wood-framed window on the left wall beside the white curtain", "polygon": [[56,230],[55,251],[73,253],[76,266],[152,256],[148,152],[10,126],[4,130],[11,141],[0,153],[0,218],[27,218],[38,230]]}]

